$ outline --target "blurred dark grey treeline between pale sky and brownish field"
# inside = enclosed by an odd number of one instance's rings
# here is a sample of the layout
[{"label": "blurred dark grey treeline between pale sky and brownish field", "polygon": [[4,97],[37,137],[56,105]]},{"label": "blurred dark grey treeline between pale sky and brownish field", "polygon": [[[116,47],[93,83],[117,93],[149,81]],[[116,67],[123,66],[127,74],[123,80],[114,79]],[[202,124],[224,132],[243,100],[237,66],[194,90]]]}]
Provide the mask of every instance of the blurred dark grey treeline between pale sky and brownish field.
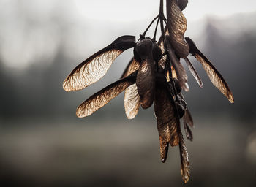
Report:
[{"label": "blurred dark grey treeline between pale sky and brownish field", "polygon": [[[217,28],[214,24],[217,22],[208,22],[203,34],[205,45],[197,47],[203,50],[225,77],[233,91],[235,104],[230,104],[211,85],[196,61],[192,63],[203,80],[204,88],[198,88],[188,72],[190,91],[185,93],[187,102],[192,112],[230,113],[238,118],[252,119],[256,103],[256,32],[248,31],[247,34],[237,34],[230,39],[227,30]],[[192,56],[189,58],[192,59]],[[71,95],[65,93],[61,86],[67,72],[72,69],[68,61],[60,47],[50,66],[32,65],[23,71],[13,71],[4,66],[0,56],[0,118],[74,116],[75,105],[70,99]],[[123,104],[116,104],[113,110],[119,112],[121,107]]]}]

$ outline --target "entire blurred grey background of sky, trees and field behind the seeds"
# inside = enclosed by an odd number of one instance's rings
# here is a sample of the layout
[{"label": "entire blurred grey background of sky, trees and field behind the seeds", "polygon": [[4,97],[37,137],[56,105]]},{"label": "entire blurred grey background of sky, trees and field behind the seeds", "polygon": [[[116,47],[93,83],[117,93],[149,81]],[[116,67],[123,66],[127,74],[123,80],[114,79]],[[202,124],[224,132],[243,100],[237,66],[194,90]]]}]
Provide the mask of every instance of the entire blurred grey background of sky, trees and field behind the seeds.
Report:
[{"label": "entire blurred grey background of sky, trees and field behind the seeds", "polygon": [[[138,38],[158,10],[155,0],[0,0],[3,186],[184,186],[178,148],[165,164],[159,159],[153,107],[127,120],[122,93],[87,118],[75,116],[78,104],[118,80],[132,50],[96,84],[62,89],[81,61],[124,34]],[[189,57],[204,88],[188,72],[195,129],[186,140],[186,186],[256,186],[256,1],[189,1],[184,15],[186,36],[235,97],[230,104]]]}]

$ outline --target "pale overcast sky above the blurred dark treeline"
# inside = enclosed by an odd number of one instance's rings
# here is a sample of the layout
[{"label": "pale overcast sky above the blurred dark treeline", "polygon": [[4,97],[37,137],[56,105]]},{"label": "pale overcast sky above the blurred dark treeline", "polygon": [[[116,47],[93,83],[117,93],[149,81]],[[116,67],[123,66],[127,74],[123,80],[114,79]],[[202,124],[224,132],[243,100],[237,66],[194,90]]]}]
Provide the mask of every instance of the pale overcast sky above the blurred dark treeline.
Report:
[{"label": "pale overcast sky above the blurred dark treeline", "polygon": [[[42,58],[48,64],[60,45],[67,55],[84,58],[107,45],[96,39],[110,42],[118,34],[141,34],[158,12],[159,0],[0,0],[1,61],[12,68]],[[187,31],[199,30],[196,20],[239,12],[256,12],[256,0],[189,0],[184,10]]]}]

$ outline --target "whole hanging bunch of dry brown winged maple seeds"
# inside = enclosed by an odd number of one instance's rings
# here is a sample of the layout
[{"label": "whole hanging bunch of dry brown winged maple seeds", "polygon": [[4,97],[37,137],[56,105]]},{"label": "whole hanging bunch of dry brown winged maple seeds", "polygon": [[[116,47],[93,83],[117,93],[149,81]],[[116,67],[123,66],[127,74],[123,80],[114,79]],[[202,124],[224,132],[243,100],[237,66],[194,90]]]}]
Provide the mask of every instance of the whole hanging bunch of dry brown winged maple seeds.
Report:
[{"label": "whole hanging bunch of dry brown winged maple seeds", "polygon": [[[189,53],[202,64],[211,82],[233,103],[233,94],[227,83],[211,62],[198,50],[195,42],[184,37],[187,20],[182,10],[187,7],[187,0],[166,0],[164,15],[163,0],[160,0],[159,15],[150,23],[138,41],[134,36],[118,37],[110,45],[87,58],[72,70],[63,88],[65,91],[78,91],[97,82],[110,68],[115,59],[129,48],[134,56],[129,61],[121,79],[108,85],[89,97],[76,110],[79,118],[91,115],[108,104],[111,99],[124,93],[124,108],[127,118],[138,114],[140,107],[147,109],[154,103],[159,131],[160,156],[162,162],[167,159],[169,145],[178,145],[181,156],[181,176],[185,183],[189,181],[189,159],[184,138],[181,133],[181,119],[187,139],[193,139],[192,116],[181,91],[189,91],[187,72],[181,65],[181,58],[186,61],[189,71],[195,77],[200,88],[203,83],[189,61]],[[157,21],[153,37],[146,36],[148,29]],[[158,28],[161,37],[156,40]]]}]

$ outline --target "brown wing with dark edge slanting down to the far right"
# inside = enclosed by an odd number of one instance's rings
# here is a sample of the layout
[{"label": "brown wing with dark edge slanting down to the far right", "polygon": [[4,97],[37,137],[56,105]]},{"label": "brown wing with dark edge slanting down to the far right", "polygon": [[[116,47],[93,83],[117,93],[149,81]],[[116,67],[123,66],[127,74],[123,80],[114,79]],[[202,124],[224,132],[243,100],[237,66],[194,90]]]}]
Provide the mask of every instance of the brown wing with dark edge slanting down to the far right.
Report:
[{"label": "brown wing with dark edge slanting down to the far right", "polygon": [[208,77],[210,78],[211,83],[213,83],[219,89],[219,91],[221,91],[227,97],[227,99],[231,103],[233,103],[233,94],[230,91],[230,88],[228,87],[222,75],[217,71],[214,65],[211,64],[211,62],[206,58],[206,56],[204,56],[203,53],[201,53],[200,50],[197,49],[195,42],[193,42],[192,39],[186,37],[186,40],[190,47],[189,53],[191,53],[192,56],[195,56],[195,58],[197,58],[197,61],[200,61],[200,63],[203,66],[203,69],[205,69]]}]

